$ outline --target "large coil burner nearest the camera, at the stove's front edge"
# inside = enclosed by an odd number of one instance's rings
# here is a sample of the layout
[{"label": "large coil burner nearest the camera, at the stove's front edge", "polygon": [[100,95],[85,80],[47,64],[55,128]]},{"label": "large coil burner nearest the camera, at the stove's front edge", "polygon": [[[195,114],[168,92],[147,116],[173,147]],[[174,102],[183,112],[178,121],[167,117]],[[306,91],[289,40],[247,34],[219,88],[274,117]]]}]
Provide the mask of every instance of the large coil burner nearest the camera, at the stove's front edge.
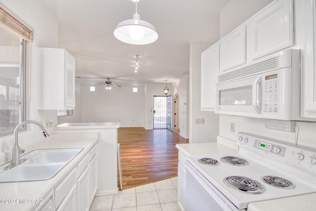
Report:
[{"label": "large coil burner nearest the camera, at the stove's front edge", "polygon": [[227,176],[224,178],[224,183],[230,188],[247,194],[260,194],[266,191],[265,186],[245,176]]}]

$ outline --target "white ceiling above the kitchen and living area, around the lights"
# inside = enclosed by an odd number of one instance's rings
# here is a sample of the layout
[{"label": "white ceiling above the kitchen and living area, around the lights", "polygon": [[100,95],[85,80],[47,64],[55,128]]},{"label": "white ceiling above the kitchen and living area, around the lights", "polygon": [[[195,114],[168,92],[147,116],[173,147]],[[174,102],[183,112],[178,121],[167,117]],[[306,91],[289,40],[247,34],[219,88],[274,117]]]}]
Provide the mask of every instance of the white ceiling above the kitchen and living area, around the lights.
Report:
[{"label": "white ceiling above the kitchen and living area, around the lights", "polygon": [[229,0],[140,0],[140,19],[158,32],[158,40],[146,45],[113,35],[120,21],[132,19],[131,0],[41,1],[58,17],[58,47],[75,56],[77,81],[98,84],[110,78],[120,85],[144,85],[177,83],[187,74],[190,42],[219,40],[219,12]]}]

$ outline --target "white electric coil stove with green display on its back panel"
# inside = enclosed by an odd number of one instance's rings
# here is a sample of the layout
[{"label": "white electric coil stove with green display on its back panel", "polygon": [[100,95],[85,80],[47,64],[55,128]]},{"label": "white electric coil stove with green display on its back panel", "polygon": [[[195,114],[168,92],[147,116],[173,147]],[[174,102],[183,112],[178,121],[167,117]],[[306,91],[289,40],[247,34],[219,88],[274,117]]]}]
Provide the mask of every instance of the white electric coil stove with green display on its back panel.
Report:
[{"label": "white electric coil stove with green display on its back panel", "polygon": [[238,152],[187,157],[187,211],[246,211],[251,202],[316,192],[316,151],[238,133]]}]

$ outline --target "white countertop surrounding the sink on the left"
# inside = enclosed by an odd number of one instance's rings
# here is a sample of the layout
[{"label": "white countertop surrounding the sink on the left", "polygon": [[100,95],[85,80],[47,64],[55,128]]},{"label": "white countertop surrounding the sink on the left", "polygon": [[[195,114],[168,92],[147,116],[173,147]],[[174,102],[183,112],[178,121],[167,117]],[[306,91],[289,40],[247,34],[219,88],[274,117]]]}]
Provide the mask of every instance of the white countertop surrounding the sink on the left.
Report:
[{"label": "white countertop surrounding the sink on the left", "polygon": [[[33,211],[39,204],[3,204],[3,200],[43,200],[77,166],[79,161],[98,141],[98,133],[52,134],[36,149],[84,148],[68,165],[53,178],[33,182],[0,183],[1,211]],[[6,165],[6,164],[5,164]],[[4,201],[5,202],[5,201]]]}]

